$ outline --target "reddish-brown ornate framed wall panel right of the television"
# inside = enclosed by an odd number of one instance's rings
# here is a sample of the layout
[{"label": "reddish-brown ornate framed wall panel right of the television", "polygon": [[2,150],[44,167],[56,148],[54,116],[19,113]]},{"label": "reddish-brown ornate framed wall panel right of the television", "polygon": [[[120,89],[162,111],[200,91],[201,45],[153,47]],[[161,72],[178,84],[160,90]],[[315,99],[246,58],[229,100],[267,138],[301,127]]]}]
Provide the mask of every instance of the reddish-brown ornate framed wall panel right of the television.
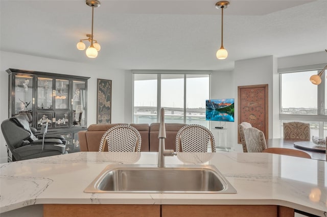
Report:
[{"label": "reddish-brown ornate framed wall panel right of the television", "polygon": [[242,122],[263,131],[268,139],[268,84],[238,87],[238,124]]}]

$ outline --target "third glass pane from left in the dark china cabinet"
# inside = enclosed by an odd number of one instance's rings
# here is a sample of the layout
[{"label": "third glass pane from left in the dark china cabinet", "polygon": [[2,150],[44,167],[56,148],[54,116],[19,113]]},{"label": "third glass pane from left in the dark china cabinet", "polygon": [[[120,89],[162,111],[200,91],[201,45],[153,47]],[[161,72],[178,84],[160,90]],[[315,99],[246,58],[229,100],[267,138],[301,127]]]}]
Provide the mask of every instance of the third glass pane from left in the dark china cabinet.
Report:
[{"label": "third glass pane from left in the dark china cabinet", "polygon": [[69,108],[69,80],[56,79],[56,108]]}]

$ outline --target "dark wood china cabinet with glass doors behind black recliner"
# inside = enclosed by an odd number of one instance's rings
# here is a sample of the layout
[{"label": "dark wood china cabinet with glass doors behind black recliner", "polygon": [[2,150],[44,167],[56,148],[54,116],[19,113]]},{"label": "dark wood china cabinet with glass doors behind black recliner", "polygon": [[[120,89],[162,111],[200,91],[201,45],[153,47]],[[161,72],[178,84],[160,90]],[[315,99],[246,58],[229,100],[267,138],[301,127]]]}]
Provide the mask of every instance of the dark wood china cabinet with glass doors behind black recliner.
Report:
[{"label": "dark wood china cabinet with glass doors behind black recliner", "polygon": [[26,113],[38,131],[48,121],[48,132],[62,134],[66,151],[80,151],[78,131],[87,127],[89,77],[7,69],[9,116]]}]

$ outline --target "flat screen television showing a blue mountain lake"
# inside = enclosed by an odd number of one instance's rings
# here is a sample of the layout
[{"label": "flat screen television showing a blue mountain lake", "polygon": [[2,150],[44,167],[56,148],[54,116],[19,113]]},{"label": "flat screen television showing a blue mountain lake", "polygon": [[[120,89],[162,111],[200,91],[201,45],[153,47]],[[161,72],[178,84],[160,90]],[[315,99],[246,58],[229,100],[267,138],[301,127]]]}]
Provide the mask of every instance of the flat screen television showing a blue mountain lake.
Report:
[{"label": "flat screen television showing a blue mountain lake", "polygon": [[205,120],[234,122],[234,99],[206,99]]}]

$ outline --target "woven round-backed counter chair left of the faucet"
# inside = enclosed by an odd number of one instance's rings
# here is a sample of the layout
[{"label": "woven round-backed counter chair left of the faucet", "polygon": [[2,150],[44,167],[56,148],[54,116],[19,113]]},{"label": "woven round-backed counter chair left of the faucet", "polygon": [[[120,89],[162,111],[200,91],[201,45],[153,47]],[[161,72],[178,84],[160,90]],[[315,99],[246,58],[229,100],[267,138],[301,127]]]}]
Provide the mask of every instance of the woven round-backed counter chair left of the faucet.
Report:
[{"label": "woven round-backed counter chair left of the faucet", "polygon": [[130,125],[116,125],[108,129],[100,142],[99,152],[108,144],[109,152],[139,152],[141,150],[141,134]]}]

